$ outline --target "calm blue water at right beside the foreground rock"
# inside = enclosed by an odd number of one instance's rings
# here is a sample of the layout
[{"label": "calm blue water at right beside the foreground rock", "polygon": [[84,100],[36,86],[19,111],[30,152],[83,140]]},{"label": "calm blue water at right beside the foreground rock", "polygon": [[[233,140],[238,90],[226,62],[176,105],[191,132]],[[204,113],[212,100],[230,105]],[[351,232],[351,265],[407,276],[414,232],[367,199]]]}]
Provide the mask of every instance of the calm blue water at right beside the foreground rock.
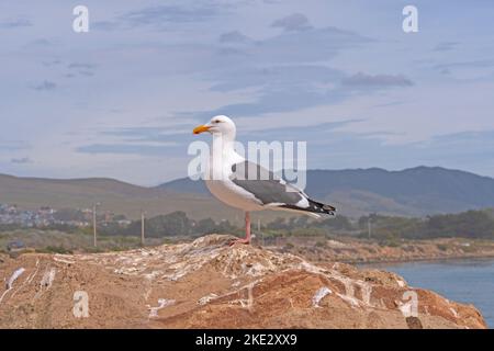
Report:
[{"label": "calm blue water at right beside the foreground rock", "polygon": [[364,264],[402,275],[411,286],[423,287],[459,303],[474,305],[494,328],[494,260],[447,260],[393,264]]}]

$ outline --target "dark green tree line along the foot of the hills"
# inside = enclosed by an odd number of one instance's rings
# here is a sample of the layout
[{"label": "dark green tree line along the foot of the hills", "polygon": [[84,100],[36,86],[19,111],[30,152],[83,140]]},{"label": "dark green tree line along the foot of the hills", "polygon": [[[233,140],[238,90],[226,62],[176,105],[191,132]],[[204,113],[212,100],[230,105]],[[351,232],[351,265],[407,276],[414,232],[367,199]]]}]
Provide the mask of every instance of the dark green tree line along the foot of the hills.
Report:
[{"label": "dark green tree line along the foot of the hills", "polygon": [[[67,214],[65,214],[67,215]],[[116,219],[122,219],[115,216]],[[132,220],[122,226],[117,220],[99,222],[98,231],[108,236],[139,236],[141,220]],[[0,225],[0,231],[14,230],[18,225]],[[90,227],[77,228],[58,224],[41,229],[56,229],[66,233],[92,231]],[[256,229],[256,228],[252,228]],[[212,233],[240,234],[243,226],[228,220],[212,218],[191,219],[182,211],[147,218],[146,237],[200,236]],[[256,231],[256,230],[254,230]],[[424,218],[398,217],[379,214],[361,216],[357,219],[337,215],[314,220],[308,216],[277,218],[261,226],[267,236],[352,236],[378,240],[428,239],[463,237],[494,239],[494,211],[468,211],[458,214],[433,215]]]}]

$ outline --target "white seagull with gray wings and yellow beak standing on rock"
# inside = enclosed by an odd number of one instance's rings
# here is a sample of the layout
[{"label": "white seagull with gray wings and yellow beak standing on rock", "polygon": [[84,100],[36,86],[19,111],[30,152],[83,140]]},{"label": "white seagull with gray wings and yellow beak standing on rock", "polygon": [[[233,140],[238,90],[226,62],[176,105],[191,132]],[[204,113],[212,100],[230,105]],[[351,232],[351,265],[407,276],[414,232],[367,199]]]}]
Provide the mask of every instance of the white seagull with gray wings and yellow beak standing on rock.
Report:
[{"label": "white seagull with gray wings and yellow beak standing on rock", "polygon": [[238,155],[234,147],[236,129],[235,123],[224,115],[214,116],[193,129],[193,134],[207,132],[213,136],[204,179],[209,191],[225,204],[245,212],[246,236],[232,245],[250,244],[252,211],[290,211],[313,217],[334,215],[334,206],[310,199],[293,184]]}]

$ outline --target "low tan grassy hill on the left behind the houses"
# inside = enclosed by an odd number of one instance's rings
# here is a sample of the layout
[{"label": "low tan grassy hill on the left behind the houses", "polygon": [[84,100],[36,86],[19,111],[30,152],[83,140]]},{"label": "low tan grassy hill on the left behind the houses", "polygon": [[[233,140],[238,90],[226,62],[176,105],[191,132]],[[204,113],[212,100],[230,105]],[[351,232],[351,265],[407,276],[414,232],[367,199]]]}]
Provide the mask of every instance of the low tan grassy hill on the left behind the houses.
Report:
[{"label": "low tan grassy hill on the left behind the houses", "polygon": [[[0,203],[16,204],[26,210],[37,210],[42,206],[90,208],[94,203],[101,203],[98,210],[100,213],[110,211],[131,219],[139,218],[141,210],[144,210],[148,217],[184,211],[193,219],[233,218],[237,223],[243,219],[239,211],[223,205],[206,194],[178,193],[104,178],[58,180],[0,174]],[[263,213],[259,218],[271,220],[274,215]]]}]

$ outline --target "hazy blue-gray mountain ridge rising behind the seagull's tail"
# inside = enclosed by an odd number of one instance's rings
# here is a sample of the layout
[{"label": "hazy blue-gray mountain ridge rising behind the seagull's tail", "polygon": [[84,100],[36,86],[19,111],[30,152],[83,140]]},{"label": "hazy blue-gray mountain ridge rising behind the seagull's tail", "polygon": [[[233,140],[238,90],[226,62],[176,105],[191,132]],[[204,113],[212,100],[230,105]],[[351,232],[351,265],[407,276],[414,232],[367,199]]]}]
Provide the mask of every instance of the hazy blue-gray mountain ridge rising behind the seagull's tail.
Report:
[{"label": "hazy blue-gray mountain ridge rising behind the seagull's tail", "polygon": [[[308,170],[306,183],[310,196],[336,204],[346,215],[423,216],[494,206],[494,179],[440,167]],[[187,178],[158,188],[207,195],[202,182]]]}]

